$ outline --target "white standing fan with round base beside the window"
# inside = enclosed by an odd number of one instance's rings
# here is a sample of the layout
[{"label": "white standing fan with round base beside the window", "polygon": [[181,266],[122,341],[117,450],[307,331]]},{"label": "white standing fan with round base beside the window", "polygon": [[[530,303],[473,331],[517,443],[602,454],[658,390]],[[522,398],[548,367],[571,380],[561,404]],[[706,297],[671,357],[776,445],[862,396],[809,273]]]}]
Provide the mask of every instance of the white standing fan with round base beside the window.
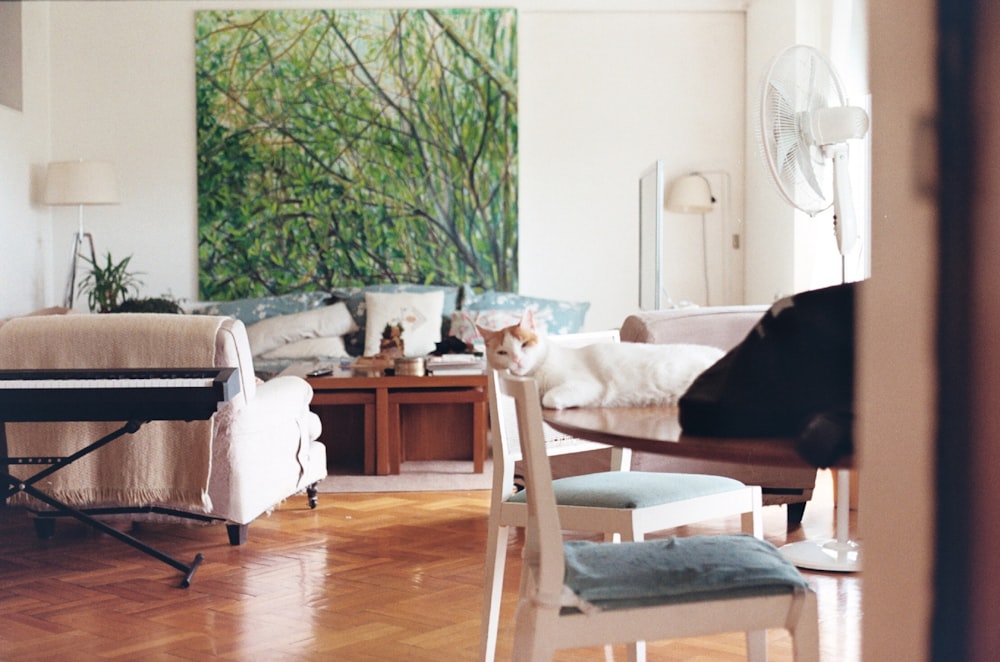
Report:
[{"label": "white standing fan with round base beside the window", "polygon": [[[868,132],[868,113],[847,105],[830,61],[810,46],[780,52],[764,75],[758,139],[771,178],[789,204],[815,216],[833,206],[841,260],[859,242],[848,175],[847,141]],[[859,545],[849,538],[850,472],[837,472],[837,537],[781,548],[801,568],[856,572]]]}]

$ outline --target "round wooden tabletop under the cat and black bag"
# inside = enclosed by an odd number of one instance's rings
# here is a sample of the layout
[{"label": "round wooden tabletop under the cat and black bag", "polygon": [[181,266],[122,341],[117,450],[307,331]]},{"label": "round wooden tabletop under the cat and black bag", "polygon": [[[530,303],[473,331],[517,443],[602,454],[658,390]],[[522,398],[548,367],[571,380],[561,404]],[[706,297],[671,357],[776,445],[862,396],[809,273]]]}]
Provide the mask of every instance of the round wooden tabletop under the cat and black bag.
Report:
[{"label": "round wooden tabletop under the cat and black bag", "polygon": [[[795,448],[791,437],[698,437],[681,431],[675,406],[543,409],[542,418],[556,430],[610,446],[703,460],[781,467],[815,468]],[[837,468],[850,468],[851,457]]]}]

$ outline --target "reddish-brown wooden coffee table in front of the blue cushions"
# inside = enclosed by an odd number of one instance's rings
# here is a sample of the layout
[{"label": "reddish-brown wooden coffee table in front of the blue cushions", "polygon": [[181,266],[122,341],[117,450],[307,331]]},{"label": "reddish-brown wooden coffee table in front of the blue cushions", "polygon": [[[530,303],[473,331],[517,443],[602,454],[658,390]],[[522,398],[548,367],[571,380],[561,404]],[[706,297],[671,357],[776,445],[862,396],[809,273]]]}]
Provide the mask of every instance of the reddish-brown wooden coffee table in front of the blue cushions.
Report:
[{"label": "reddish-brown wooden coffee table in front of the blue cushions", "polygon": [[473,471],[483,472],[486,375],[355,377],[337,368],[308,377],[313,368],[300,364],[282,374],[312,386],[311,407],[323,421],[320,439],[331,459],[360,449],[366,474],[398,474],[407,460],[456,459],[471,459]]}]

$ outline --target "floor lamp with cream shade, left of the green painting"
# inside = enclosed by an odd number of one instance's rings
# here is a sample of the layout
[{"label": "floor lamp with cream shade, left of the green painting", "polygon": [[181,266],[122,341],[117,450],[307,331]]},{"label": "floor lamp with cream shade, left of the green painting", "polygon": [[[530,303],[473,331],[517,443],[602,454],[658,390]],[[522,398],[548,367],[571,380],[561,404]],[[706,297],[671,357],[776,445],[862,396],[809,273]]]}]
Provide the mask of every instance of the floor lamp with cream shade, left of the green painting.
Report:
[{"label": "floor lamp with cream shade, left of the green painting", "polygon": [[80,208],[79,228],[73,236],[70,252],[69,280],[66,283],[67,308],[76,300],[76,274],[84,242],[90,248],[90,260],[97,262],[94,238],[83,229],[85,205],[117,205],[118,180],[108,161],[54,161],[49,164],[45,179],[45,202],[49,205],[76,205]]}]

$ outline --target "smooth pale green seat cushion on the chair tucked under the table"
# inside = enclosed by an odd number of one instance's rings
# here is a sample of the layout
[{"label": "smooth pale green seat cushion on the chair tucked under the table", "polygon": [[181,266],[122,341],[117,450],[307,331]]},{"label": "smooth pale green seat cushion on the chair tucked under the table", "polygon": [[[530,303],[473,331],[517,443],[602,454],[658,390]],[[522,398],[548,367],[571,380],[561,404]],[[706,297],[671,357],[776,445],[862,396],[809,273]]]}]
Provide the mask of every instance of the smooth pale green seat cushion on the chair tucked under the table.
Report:
[{"label": "smooth pale green seat cushion on the chair tucked under the table", "polygon": [[[742,487],[745,485],[740,481],[723,476],[655,471],[604,471],[552,481],[559,505],[595,508],[646,508]],[[525,503],[526,491],[508,500]]]}]

